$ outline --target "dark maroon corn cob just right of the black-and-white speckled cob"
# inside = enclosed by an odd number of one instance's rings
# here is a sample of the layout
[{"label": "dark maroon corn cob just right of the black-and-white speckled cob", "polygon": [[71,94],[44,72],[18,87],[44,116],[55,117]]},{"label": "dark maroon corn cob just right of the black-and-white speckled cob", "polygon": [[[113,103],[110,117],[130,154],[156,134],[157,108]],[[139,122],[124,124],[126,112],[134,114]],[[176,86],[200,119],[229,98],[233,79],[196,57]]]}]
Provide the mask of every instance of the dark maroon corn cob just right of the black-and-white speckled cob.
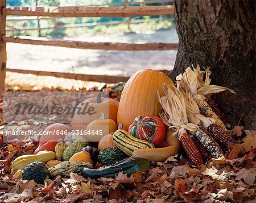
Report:
[{"label": "dark maroon corn cob just right of the black-and-white speckled cob", "polygon": [[232,138],[231,135],[227,134],[224,130],[221,129],[220,126],[214,123],[209,125],[207,130],[210,136],[212,136],[214,140],[216,140],[216,142],[218,142],[223,146],[228,146],[228,144],[232,144],[232,145],[236,144],[236,140]]}]

